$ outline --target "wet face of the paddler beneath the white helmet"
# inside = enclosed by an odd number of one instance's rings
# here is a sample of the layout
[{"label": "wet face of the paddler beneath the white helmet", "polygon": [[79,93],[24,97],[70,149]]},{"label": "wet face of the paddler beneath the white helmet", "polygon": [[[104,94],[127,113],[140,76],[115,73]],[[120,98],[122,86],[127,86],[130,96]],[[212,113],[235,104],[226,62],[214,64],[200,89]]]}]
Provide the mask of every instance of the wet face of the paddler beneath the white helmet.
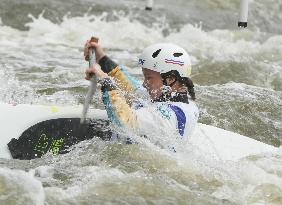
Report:
[{"label": "wet face of the paddler beneath the white helmet", "polygon": [[145,78],[143,86],[149,92],[152,100],[156,100],[162,94],[162,77],[160,73],[149,70],[147,68],[142,68],[142,72]]}]

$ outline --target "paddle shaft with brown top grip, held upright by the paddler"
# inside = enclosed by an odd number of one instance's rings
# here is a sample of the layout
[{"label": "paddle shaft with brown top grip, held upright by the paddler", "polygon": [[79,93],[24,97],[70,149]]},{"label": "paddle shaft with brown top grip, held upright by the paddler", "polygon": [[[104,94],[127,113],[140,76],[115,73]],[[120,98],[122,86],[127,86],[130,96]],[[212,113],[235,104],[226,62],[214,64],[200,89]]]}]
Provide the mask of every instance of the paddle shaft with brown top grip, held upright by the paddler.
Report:
[{"label": "paddle shaft with brown top grip, held upright by the paddler", "polygon": [[[98,38],[95,37],[91,37],[90,42],[96,42],[98,43]],[[96,63],[96,58],[95,58],[95,48],[90,48],[89,49],[89,68],[91,68],[92,66],[94,66]],[[82,117],[80,119],[80,123],[84,123],[86,120],[86,115],[89,109],[89,105],[91,103],[91,100],[93,98],[93,95],[96,92],[96,88],[97,88],[97,77],[94,75],[91,79],[90,79],[90,86],[88,88],[88,92],[85,98],[85,102],[83,105],[83,110],[82,110]]]}]

